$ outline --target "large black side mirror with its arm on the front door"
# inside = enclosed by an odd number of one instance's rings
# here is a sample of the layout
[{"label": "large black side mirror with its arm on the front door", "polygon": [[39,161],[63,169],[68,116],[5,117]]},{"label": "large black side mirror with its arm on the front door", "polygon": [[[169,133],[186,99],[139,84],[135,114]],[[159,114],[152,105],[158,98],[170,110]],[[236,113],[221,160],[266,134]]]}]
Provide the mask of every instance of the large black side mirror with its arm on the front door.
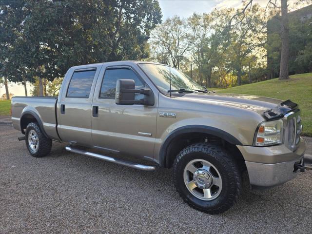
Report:
[{"label": "large black side mirror with its arm on the front door", "polygon": [[[135,99],[135,94],[144,94],[141,100]],[[154,95],[150,89],[136,89],[133,79],[118,79],[116,83],[115,101],[117,105],[154,105]]]}]

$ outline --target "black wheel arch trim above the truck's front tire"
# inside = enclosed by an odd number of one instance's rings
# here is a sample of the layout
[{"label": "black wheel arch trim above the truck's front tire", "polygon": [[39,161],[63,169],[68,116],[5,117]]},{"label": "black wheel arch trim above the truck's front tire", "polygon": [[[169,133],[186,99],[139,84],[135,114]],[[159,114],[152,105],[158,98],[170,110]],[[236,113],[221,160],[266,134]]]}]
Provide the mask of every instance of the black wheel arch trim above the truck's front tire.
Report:
[{"label": "black wheel arch trim above the truck's front tire", "polygon": [[[177,128],[169,136],[166,137],[159,151],[159,164],[161,167],[170,168],[173,164],[174,158],[176,157],[176,155],[172,155],[172,153],[178,153],[181,149],[185,147],[185,145],[182,142],[180,143],[179,141],[181,137],[209,137],[219,139],[223,142],[223,144],[229,143],[231,147],[233,147],[235,153],[237,151],[237,154],[241,156],[241,153],[236,145],[243,144],[233,135],[211,126],[188,125]],[[191,143],[192,142],[190,142],[189,144]],[[240,160],[241,158],[242,156],[240,157]]]}]

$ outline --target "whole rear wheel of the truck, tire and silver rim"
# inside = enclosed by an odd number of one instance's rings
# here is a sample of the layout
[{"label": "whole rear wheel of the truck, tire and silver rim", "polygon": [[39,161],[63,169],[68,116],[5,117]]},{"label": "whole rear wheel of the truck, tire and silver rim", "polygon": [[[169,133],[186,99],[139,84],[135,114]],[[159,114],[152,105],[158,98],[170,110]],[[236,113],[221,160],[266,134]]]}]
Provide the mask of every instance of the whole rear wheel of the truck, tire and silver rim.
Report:
[{"label": "whole rear wheel of the truck, tire and silver rim", "polygon": [[52,140],[44,136],[37,122],[27,125],[25,141],[29,153],[34,157],[46,156],[52,148]]}]

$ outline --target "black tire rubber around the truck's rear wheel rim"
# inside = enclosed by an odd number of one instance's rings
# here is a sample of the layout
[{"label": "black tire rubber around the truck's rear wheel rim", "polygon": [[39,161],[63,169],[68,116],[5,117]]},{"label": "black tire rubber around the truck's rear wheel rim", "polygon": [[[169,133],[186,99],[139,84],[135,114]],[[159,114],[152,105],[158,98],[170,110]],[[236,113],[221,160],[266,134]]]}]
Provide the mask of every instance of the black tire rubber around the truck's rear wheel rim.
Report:
[{"label": "black tire rubber around the truck's rear wheel rim", "polygon": [[[33,150],[29,144],[28,136],[32,130],[36,132],[39,139],[38,148],[36,150]],[[25,132],[25,142],[29,153],[33,157],[46,156],[47,154],[50,153],[52,148],[52,140],[44,136],[37,122],[31,122],[27,125]]]}]

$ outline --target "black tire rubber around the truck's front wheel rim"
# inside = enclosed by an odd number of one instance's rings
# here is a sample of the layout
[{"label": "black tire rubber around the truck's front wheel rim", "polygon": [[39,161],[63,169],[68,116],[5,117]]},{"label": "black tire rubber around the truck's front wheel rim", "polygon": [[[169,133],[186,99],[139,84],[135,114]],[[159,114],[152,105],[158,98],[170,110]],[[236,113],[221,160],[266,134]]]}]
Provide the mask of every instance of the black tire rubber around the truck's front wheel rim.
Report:
[{"label": "black tire rubber around the truck's front wheel rim", "polygon": [[[184,169],[195,159],[206,160],[213,164],[222,178],[221,192],[214,200],[197,198],[185,185]],[[241,175],[237,163],[218,145],[198,143],[184,148],[176,157],[173,168],[177,192],[186,203],[199,211],[211,215],[223,213],[234,205],[240,195]]]}]

